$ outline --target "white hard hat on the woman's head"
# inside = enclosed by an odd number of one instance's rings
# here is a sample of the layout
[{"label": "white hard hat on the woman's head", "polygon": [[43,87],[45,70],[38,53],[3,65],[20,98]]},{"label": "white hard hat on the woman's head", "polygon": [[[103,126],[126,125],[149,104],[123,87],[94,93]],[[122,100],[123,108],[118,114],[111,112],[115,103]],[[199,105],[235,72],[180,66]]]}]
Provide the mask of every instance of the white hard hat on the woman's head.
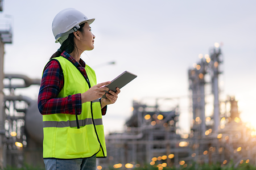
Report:
[{"label": "white hard hat on the woman's head", "polygon": [[87,22],[92,24],[93,19],[88,19],[82,12],[77,11],[74,8],[67,8],[60,11],[52,22],[52,32],[55,37],[55,42],[60,42],[68,39],[69,33],[77,31],[80,28],[80,24]]}]

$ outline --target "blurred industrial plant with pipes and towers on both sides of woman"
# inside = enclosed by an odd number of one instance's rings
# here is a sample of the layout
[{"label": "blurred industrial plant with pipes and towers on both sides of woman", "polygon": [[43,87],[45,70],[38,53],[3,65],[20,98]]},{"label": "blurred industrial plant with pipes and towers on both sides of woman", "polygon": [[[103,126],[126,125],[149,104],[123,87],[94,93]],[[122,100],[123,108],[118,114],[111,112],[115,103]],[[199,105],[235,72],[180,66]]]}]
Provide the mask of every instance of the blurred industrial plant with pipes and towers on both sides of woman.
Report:
[{"label": "blurred industrial plant with pipes and towers on both sides of woman", "polygon": [[[43,121],[37,101],[15,93],[17,89],[39,86],[40,79],[3,73],[4,46],[12,43],[11,25],[0,30],[0,37],[0,169],[7,165],[20,168],[24,163],[44,167]],[[240,120],[234,96],[220,100],[219,79],[225,74],[221,70],[224,57],[220,45],[215,44],[209,54],[200,54],[199,58],[188,69],[189,133],[180,130],[179,97],[159,94],[150,99],[151,104],[134,100],[133,113],[123,131],[105,136],[108,157],[97,159],[99,170],[147,166],[162,170],[195,162],[221,163],[222,167],[229,162],[236,166],[255,164],[256,131]],[[212,102],[206,101],[209,96]],[[207,105],[213,108],[210,115],[205,114]]]}]

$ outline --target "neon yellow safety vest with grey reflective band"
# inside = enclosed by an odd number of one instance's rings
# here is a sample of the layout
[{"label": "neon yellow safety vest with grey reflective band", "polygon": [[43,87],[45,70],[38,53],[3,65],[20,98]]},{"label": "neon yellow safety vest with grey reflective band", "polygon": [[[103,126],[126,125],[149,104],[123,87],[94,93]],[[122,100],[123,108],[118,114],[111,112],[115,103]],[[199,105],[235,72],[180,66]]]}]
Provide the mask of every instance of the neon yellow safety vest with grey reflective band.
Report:
[{"label": "neon yellow safety vest with grey reflective band", "polygon": [[[59,61],[64,75],[64,86],[59,97],[82,94],[96,85],[93,69],[85,66],[89,80],[80,73],[73,63],[64,57],[54,58]],[[77,121],[80,129],[77,129]],[[88,158],[97,154],[97,158],[106,158],[106,144],[100,100],[82,104],[82,112],[73,114],[43,115],[43,158],[76,159]]]}]

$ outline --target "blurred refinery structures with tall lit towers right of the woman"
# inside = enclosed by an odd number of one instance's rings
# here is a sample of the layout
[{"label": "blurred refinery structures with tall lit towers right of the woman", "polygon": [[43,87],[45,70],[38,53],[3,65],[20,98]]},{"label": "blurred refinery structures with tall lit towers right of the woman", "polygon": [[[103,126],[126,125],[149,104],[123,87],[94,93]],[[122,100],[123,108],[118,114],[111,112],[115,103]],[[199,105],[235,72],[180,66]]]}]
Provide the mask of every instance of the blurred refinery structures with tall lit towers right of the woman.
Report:
[{"label": "blurred refinery structures with tall lit towers right of the woman", "polygon": [[[168,166],[187,167],[193,162],[221,163],[222,167],[229,162],[236,167],[250,161],[255,164],[255,129],[240,120],[235,97],[219,99],[219,76],[223,73],[220,47],[199,58],[188,70],[190,132],[180,133],[178,99],[156,98],[154,105],[135,100],[125,130],[106,136],[108,158],[98,160],[98,169],[151,165],[162,170]],[[210,94],[205,92],[209,87]],[[170,101],[170,110],[161,110],[163,100]],[[213,108],[210,116],[205,114],[207,105]]]}]

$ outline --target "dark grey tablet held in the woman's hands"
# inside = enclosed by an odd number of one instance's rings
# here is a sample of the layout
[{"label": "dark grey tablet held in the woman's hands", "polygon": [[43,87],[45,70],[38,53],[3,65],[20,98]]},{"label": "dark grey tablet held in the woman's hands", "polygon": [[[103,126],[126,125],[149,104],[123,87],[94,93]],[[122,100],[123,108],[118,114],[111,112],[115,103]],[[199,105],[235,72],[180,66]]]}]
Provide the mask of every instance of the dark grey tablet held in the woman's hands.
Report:
[{"label": "dark grey tablet held in the woman's hands", "polygon": [[[130,73],[129,71],[125,71],[122,74],[118,75],[115,79],[111,81],[110,84],[106,85],[106,87],[109,88],[109,90],[116,92],[117,90],[115,88],[122,88],[126,84],[130,83],[131,80],[137,78],[137,75]],[[105,91],[106,93],[109,93],[108,91]],[[102,96],[102,98],[106,99],[106,94]]]}]

